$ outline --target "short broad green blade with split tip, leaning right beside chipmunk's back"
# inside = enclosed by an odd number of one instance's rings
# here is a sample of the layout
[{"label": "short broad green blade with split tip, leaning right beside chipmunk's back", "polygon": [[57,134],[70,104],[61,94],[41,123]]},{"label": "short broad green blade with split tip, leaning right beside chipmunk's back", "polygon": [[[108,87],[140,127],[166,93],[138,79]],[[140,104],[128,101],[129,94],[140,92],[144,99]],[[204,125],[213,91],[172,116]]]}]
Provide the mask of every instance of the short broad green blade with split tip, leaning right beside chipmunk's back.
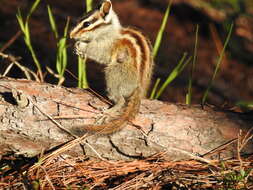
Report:
[{"label": "short broad green blade with split tip, leaning right beside chipmunk's back", "polygon": [[158,92],[155,96],[155,99],[158,99],[161,96],[161,94],[163,93],[165,88],[183,71],[185,66],[189,63],[189,61],[191,60],[191,57],[189,57],[188,60],[184,63],[186,56],[187,56],[187,53],[184,53],[183,57],[181,58],[181,60],[177,64],[177,66],[173,69],[173,71],[167,77],[166,81],[163,83],[161,88],[158,90]]}]

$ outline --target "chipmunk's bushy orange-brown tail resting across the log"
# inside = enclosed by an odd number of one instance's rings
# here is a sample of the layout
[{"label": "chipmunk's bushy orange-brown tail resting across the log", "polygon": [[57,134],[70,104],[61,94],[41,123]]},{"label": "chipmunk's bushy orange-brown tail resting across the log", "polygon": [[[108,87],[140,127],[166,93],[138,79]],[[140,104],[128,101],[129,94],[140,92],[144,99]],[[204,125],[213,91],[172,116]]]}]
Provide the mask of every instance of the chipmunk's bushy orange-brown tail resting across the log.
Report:
[{"label": "chipmunk's bushy orange-brown tail resting across the log", "polygon": [[127,122],[133,120],[139,112],[141,101],[140,89],[137,88],[133,94],[126,101],[125,106],[120,111],[120,114],[116,118],[109,119],[105,124],[101,125],[83,125],[75,127],[73,131],[75,134],[79,133],[93,133],[108,135],[121,130]]}]

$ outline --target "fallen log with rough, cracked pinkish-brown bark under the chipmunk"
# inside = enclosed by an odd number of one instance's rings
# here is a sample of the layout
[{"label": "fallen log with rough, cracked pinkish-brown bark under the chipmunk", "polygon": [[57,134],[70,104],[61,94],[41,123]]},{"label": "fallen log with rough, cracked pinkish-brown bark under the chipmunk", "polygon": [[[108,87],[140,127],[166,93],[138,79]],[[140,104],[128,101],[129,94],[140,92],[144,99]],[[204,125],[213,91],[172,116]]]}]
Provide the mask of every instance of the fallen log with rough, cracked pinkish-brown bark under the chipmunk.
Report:
[{"label": "fallen log with rough, cracked pinkish-brown bark under the chipmunk", "polygon": [[[80,123],[95,121],[100,111],[93,105],[107,106],[88,90],[1,78],[0,155],[33,157],[73,140],[49,116],[71,131]],[[170,160],[191,158],[191,155],[226,158],[236,156],[234,139],[240,130],[245,134],[253,126],[252,118],[210,107],[143,100],[133,122],[109,136],[90,135],[84,140],[84,150],[88,157],[99,154],[115,160],[143,158],[158,152],[165,152]],[[231,141],[228,146],[221,146]],[[216,154],[206,155],[218,147]],[[252,150],[251,141],[242,153]],[[77,145],[64,154],[78,156],[83,151]]]}]

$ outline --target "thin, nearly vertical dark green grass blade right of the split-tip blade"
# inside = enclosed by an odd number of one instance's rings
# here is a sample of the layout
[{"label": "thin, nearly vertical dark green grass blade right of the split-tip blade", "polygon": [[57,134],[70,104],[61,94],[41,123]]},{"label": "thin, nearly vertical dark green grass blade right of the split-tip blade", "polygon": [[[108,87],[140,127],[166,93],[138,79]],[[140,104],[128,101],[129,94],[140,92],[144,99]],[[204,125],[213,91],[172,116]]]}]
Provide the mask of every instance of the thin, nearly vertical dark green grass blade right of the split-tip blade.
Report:
[{"label": "thin, nearly vertical dark green grass blade right of the split-tip blade", "polygon": [[196,65],[196,60],[197,60],[198,36],[199,36],[199,25],[197,25],[196,33],[195,33],[194,54],[193,54],[191,73],[190,73],[189,84],[188,84],[188,93],[186,94],[187,105],[190,105],[191,100],[192,100],[192,79],[193,79],[193,73],[195,71],[195,65]]}]

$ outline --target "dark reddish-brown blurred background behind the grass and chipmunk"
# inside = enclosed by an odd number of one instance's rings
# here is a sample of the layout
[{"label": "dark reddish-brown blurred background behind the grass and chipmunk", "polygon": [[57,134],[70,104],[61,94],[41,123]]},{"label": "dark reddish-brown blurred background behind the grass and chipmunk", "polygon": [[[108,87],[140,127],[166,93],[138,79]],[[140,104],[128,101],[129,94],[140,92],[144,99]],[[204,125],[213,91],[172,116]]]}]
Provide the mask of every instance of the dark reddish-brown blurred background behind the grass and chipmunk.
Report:
[{"label": "dark reddish-brown blurred background behind the grass and chipmunk", "polygon": [[[167,0],[112,0],[115,12],[123,26],[140,29],[154,44],[162,23]],[[31,54],[26,47],[16,14],[20,8],[26,15],[32,0],[1,0],[0,6],[0,51],[17,57],[19,62],[36,71]],[[93,5],[99,1],[93,2]],[[66,20],[70,17],[70,27],[86,10],[84,0],[42,0],[32,14],[29,27],[34,51],[40,60],[45,81],[57,84],[45,68],[56,70],[56,44],[52,32],[47,5],[62,35]],[[219,107],[233,108],[238,102],[253,102],[253,1],[252,0],[173,0],[162,43],[155,59],[153,84],[157,78],[161,83],[178,64],[184,52],[193,55],[196,27],[199,26],[197,61],[193,74],[192,103],[201,103],[203,93],[213,76],[223,44],[234,23],[233,33],[226,49],[223,62],[208,96],[208,103]],[[73,54],[73,42],[67,39],[68,61],[63,85],[76,87],[77,56]],[[10,62],[0,58],[0,74]],[[88,80],[90,86],[103,92],[99,79],[102,68],[88,61]],[[166,88],[163,101],[185,103],[190,76],[190,64]],[[72,74],[70,74],[72,73]],[[24,78],[18,67],[13,67],[7,76]],[[249,106],[250,107],[250,106]]]}]

